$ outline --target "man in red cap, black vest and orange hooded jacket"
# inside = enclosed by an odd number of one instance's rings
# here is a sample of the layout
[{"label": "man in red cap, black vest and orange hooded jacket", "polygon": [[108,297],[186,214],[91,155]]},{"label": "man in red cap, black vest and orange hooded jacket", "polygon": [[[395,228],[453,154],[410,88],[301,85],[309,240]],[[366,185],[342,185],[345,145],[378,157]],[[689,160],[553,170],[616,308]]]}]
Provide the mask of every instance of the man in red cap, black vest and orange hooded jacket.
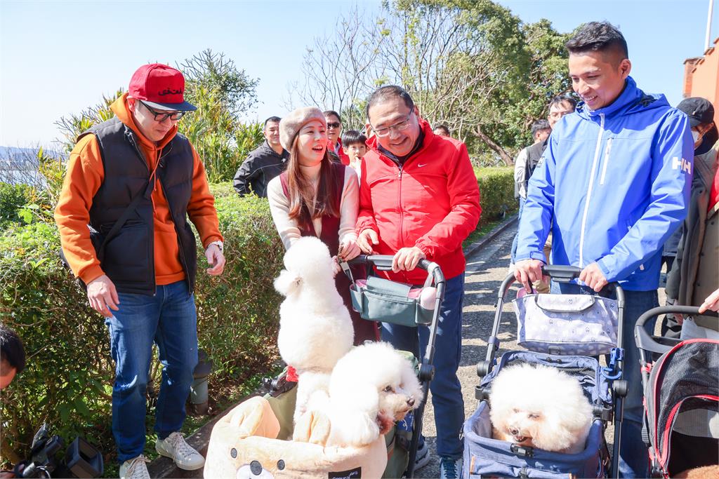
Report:
[{"label": "man in red cap, black vest and orange hooded jacket", "polygon": [[145,390],[156,343],[162,365],[155,448],[179,468],[203,457],[180,434],[198,361],[193,290],[195,224],[210,265],[224,268],[205,169],[178,121],[195,106],[183,96],[182,73],[140,67],[109,121],[78,137],[55,209],[63,252],[87,285],[90,306],[105,317],[115,361],[112,430],[121,478],[149,478],[145,456]]}]

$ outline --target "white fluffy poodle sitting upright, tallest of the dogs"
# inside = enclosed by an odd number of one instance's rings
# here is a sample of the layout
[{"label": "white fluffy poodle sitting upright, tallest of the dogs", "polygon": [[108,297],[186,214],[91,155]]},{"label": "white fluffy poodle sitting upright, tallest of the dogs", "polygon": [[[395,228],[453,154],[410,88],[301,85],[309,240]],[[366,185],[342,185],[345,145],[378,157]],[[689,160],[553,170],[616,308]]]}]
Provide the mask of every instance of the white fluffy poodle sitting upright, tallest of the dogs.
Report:
[{"label": "white fluffy poodle sitting upright, tallest of the dogs", "polygon": [[285,363],[298,373],[297,422],[311,394],[326,394],[332,368],[352,348],[354,330],[334,285],[334,261],[319,238],[298,239],[284,261],[275,279],[275,289],[285,295],[277,344]]}]

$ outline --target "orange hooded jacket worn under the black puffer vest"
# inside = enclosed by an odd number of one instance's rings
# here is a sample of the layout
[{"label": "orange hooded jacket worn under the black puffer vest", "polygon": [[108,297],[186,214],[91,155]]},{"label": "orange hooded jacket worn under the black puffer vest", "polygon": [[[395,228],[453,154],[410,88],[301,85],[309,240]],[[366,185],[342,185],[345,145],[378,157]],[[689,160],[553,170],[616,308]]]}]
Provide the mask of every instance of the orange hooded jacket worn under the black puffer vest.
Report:
[{"label": "orange hooded jacket worn under the black puffer vest", "polygon": [[[132,112],[127,106],[127,93],[118,98],[110,108],[124,124],[137,134],[139,147],[142,148],[147,162],[150,162],[147,167],[150,172],[154,172],[162,147],[173,139],[177,133],[177,125],[173,126],[173,129],[160,141],[160,144],[155,145],[153,141],[142,136],[135,125]],[[187,213],[200,233],[203,246],[206,247],[213,241],[222,241],[222,235],[219,231],[215,200],[207,185],[205,167],[194,147],[192,154],[194,163],[192,195]],[[63,244],[70,269],[73,270],[75,276],[86,283],[104,274],[90,241],[90,231],[87,227],[90,221],[93,197],[103,180],[104,168],[97,139],[95,135],[83,136],[70,153],[63,191],[60,193],[60,200],[55,208],[55,222],[58,223],[60,229],[60,241]],[[180,264],[180,245],[170,216],[168,200],[162,192],[159,181],[155,182],[152,204],[155,213],[153,222],[155,229],[155,282],[157,285],[162,285],[181,281],[185,278],[185,271]]]}]

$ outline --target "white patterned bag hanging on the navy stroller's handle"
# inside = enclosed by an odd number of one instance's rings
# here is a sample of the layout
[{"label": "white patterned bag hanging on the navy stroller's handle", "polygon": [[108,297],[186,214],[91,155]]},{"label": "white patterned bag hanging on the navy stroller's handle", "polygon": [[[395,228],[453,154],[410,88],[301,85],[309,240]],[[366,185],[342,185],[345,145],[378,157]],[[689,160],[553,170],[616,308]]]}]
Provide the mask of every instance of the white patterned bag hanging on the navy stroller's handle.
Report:
[{"label": "white patterned bag hanging on the navy stroller's handle", "polygon": [[615,299],[594,294],[526,294],[513,301],[517,342],[538,353],[594,356],[617,343]]}]

